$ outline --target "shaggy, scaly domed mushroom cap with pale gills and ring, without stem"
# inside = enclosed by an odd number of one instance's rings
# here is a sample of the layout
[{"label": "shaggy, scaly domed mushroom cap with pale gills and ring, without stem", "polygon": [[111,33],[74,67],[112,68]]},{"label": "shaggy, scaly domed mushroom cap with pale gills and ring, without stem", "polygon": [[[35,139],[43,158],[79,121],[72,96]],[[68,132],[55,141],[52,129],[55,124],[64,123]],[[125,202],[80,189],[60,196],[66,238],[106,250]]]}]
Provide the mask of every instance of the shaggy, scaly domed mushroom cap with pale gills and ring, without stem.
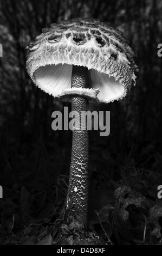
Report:
[{"label": "shaggy, scaly domed mushroom cap with pale gills and ring, without stem", "polygon": [[[107,22],[78,18],[51,24],[42,32],[27,47],[27,70],[44,92],[108,103],[135,85],[134,53],[122,33]],[[88,68],[89,88],[71,87],[73,65]]]}]

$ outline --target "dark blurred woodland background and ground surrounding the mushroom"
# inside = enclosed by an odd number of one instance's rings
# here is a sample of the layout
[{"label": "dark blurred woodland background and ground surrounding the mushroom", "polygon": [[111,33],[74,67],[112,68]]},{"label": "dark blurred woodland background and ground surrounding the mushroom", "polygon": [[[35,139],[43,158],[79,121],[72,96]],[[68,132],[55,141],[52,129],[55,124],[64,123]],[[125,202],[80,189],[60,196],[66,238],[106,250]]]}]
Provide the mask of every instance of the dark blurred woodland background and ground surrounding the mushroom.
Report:
[{"label": "dark blurred woodland background and ground surrounding the mushroom", "polygon": [[50,23],[74,17],[124,32],[139,67],[137,86],[122,101],[89,105],[111,111],[108,137],[89,132],[89,224],[114,244],[161,244],[161,13],[159,0],[0,1],[1,244],[42,239],[66,196],[72,132],[51,130],[51,113],[68,104],[34,86],[25,47]]}]

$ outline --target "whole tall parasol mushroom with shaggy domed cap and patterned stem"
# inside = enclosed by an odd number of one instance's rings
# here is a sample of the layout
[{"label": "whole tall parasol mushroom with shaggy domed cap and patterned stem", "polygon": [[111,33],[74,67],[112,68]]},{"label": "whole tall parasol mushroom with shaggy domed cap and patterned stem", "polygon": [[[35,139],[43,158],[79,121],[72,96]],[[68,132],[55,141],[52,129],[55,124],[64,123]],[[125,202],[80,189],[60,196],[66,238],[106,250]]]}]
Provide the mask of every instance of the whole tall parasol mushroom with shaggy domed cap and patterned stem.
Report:
[{"label": "whole tall parasol mushroom with shaggy domed cap and patterned stem", "polygon": [[[106,22],[72,19],[43,29],[27,47],[27,70],[44,92],[72,102],[81,115],[87,101],[111,102],[135,85],[134,53],[122,33]],[[67,209],[87,222],[88,131],[73,130]]]}]

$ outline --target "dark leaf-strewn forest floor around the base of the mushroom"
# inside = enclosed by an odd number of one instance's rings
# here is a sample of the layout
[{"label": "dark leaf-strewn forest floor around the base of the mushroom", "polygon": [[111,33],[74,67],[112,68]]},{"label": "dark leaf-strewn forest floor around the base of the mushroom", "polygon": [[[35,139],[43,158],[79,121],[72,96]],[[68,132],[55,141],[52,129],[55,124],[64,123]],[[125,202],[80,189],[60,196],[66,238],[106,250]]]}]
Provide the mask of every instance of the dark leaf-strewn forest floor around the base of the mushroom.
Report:
[{"label": "dark leaf-strewn forest floor around the base of the mushroom", "polygon": [[[20,151],[5,149],[1,245],[61,245],[62,234],[68,237],[66,244],[75,244],[79,224],[75,220],[62,224],[69,150],[58,145],[54,153],[49,147],[47,154],[41,141]],[[149,150],[140,154],[143,164],[131,155],[121,164],[107,147],[93,145],[87,241],[98,237],[102,245],[161,245],[162,200],[157,197],[157,187],[162,181],[162,155],[148,157]]]}]

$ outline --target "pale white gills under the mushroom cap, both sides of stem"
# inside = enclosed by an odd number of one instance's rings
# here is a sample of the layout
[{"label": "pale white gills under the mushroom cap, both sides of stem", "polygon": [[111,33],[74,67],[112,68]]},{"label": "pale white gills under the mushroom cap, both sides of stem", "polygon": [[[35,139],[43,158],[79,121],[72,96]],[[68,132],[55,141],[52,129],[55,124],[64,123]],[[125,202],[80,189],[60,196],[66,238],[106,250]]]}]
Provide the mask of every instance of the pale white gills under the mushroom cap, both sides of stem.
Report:
[{"label": "pale white gills under the mushroom cap, both sides of stem", "polygon": [[[71,88],[73,65],[57,64],[46,65],[38,68],[34,73],[35,83],[44,92],[60,96],[66,89]],[[98,99],[100,102],[111,102],[124,96],[125,88],[114,77],[109,77],[105,73],[90,69],[89,72],[90,88],[99,89]]]}]

